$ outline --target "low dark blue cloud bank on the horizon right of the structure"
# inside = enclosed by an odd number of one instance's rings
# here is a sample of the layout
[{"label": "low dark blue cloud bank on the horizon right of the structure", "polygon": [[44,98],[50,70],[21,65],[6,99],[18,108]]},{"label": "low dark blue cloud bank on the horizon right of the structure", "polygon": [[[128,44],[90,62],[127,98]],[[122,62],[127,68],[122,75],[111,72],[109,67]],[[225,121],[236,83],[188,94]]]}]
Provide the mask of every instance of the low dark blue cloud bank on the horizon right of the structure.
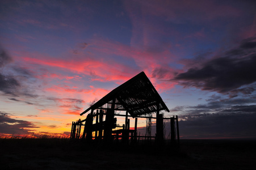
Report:
[{"label": "low dark blue cloud bank on the horizon right of the structure", "polygon": [[180,134],[183,138],[191,139],[256,138],[255,108],[255,105],[253,107],[236,106],[222,113],[204,113],[183,117],[185,120],[179,121]]}]

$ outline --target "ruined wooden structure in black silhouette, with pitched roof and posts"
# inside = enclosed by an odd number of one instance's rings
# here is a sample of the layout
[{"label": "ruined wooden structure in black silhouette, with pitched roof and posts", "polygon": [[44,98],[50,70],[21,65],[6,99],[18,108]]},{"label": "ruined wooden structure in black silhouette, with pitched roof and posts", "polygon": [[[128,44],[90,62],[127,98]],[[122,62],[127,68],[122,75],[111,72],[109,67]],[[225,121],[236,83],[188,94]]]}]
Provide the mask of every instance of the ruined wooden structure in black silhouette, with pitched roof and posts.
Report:
[{"label": "ruined wooden structure in black silhouette, with pitched roof and posts", "polygon": [[[178,116],[163,117],[163,110],[170,112],[146,74],[141,72],[82,112],[80,115],[88,113],[87,117],[72,122],[70,138],[124,144],[137,143],[138,139],[144,138],[162,145],[165,138],[163,120],[168,119],[171,127],[170,141],[173,145],[179,145]],[[125,114],[117,114],[117,111],[125,111]],[[152,113],[156,113],[156,117],[152,117]],[[117,117],[125,117],[123,125],[116,124]],[[135,119],[134,128],[130,128],[129,118]],[[146,119],[145,136],[137,134],[137,118]],[[151,134],[152,119],[156,119],[156,135]],[[81,126],[84,126],[82,135]]]}]

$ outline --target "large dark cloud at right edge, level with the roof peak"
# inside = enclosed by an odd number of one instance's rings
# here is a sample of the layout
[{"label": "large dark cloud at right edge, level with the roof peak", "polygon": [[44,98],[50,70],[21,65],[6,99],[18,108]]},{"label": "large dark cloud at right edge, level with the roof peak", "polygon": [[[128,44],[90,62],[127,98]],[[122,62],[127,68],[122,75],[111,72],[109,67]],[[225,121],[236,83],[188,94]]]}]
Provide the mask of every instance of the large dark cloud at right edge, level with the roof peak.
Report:
[{"label": "large dark cloud at right edge, level with the roof peak", "polygon": [[256,82],[255,41],[255,37],[243,40],[237,48],[221,54],[223,57],[213,58],[201,68],[192,67],[185,73],[177,74],[173,80],[184,87],[196,87],[221,94],[251,94],[254,87],[242,86]]}]

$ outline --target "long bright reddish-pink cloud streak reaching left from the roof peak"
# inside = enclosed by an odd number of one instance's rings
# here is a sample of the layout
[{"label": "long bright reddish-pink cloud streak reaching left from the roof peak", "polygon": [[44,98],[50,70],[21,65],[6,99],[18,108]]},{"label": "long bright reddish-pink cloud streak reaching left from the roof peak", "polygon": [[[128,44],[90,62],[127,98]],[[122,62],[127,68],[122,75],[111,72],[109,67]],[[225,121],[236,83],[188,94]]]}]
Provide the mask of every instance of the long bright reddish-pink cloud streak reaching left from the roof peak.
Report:
[{"label": "long bright reddish-pink cloud streak reaching left from the roof peak", "polygon": [[[19,54],[20,55],[20,54]],[[105,81],[125,81],[131,78],[139,71],[134,71],[127,65],[115,62],[111,58],[91,58],[84,57],[85,54],[76,55],[76,58],[54,58],[46,54],[23,54],[19,60],[26,62],[26,65],[41,65],[44,69],[51,68],[60,71],[60,73],[40,73],[37,71],[36,76],[39,78],[59,78],[59,79],[79,79],[81,76],[65,76],[63,71],[69,71],[75,74],[85,74],[91,76],[91,80]],[[36,56],[32,57],[32,56]]]}]

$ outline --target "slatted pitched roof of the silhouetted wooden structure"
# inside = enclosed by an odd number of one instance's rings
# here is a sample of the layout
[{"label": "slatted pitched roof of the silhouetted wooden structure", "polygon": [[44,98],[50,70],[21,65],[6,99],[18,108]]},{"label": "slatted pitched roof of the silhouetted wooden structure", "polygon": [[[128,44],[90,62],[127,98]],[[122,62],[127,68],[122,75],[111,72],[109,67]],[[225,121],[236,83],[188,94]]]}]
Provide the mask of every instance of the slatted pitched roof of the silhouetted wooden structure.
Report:
[{"label": "slatted pitched roof of the silhouetted wooden structure", "polygon": [[132,117],[157,112],[157,109],[170,112],[153,84],[142,71],[119,87],[116,87],[80,115],[82,116],[82,114],[91,109],[106,108],[103,105],[111,108],[113,100],[115,100],[115,110],[128,111]]}]

